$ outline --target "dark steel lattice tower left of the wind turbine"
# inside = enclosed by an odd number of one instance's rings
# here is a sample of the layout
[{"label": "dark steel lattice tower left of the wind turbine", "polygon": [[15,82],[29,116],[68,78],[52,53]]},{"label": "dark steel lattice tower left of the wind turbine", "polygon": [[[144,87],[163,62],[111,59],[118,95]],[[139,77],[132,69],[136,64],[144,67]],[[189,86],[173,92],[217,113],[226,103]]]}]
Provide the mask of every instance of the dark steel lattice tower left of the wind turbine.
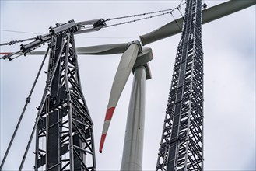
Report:
[{"label": "dark steel lattice tower left of the wind turbine", "polygon": [[82,95],[74,29],[54,34],[49,44],[47,84],[37,124],[35,170],[96,170],[93,122]]}]

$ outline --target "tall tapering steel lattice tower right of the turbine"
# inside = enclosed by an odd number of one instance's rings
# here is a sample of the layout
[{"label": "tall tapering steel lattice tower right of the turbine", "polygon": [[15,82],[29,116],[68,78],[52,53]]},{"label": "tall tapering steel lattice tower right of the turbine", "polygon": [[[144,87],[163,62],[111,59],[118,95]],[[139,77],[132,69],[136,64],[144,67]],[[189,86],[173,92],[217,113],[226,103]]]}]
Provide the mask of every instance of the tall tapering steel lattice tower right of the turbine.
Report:
[{"label": "tall tapering steel lattice tower right of the turbine", "polygon": [[156,170],[203,170],[202,2],[187,0]]}]

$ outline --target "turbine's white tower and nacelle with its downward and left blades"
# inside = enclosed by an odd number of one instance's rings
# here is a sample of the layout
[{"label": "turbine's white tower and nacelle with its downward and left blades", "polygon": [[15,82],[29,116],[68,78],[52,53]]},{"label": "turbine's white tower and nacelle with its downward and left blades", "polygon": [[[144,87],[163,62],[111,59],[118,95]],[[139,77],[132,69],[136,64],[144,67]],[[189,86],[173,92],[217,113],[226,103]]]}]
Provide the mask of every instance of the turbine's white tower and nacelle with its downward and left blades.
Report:
[{"label": "turbine's white tower and nacelle with its downward and left blades", "polygon": [[131,72],[134,73],[132,93],[128,108],[125,130],[121,170],[142,170],[142,152],[145,118],[145,81],[151,79],[148,62],[153,59],[152,50],[142,48],[139,41],[128,44],[110,44],[78,48],[80,54],[119,54],[121,61],[118,65],[114,82],[110,91],[106,117],[100,139],[100,152],[107,136],[110,121],[114,114],[121,92]]}]

